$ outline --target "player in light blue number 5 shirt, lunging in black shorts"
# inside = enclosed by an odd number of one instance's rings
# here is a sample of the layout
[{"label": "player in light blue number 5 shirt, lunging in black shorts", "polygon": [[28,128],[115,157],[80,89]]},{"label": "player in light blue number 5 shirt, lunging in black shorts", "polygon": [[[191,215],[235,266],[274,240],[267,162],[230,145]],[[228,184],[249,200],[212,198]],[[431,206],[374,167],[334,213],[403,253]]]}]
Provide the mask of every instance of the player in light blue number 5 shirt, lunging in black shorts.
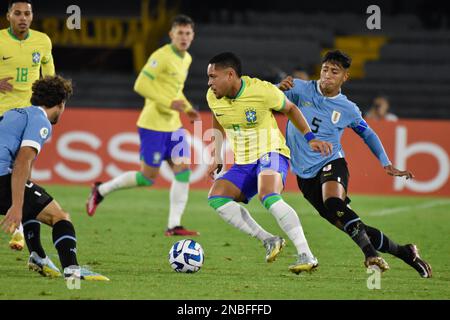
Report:
[{"label": "player in light blue number 5 shirt, lunging in black shorts", "polygon": [[279,84],[286,97],[305,115],[317,137],[333,144],[333,152],[328,157],[320,157],[311,152],[294,124],[288,123],[287,145],[292,152],[291,162],[298,186],[323,218],[346,232],[361,248],[367,267],[376,265],[381,271],[389,269],[377,253],[387,252],[416,269],[423,278],[429,278],[431,266],[420,258],[417,246],[395,243],[380,230],[365,225],[349,206],[349,172],[340,142],[347,127],[364,140],[387,174],[413,178],[411,172],[392,166],[380,139],[363,120],[359,108],[341,94],[341,87],[349,77],[350,64],[351,59],[346,54],[330,51],[322,61],[320,80],[303,81],[288,77]]}]

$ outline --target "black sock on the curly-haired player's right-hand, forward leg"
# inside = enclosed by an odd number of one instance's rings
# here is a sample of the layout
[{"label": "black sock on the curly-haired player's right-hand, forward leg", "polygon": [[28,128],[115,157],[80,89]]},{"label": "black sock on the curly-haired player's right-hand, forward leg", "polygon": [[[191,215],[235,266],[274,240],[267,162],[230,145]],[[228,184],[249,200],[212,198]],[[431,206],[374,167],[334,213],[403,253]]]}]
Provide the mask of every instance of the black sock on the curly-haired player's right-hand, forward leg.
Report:
[{"label": "black sock on the curly-haired player's right-hand, forward leg", "polygon": [[61,220],[53,226],[53,244],[58,251],[59,261],[64,268],[77,266],[77,240],[70,221]]}]

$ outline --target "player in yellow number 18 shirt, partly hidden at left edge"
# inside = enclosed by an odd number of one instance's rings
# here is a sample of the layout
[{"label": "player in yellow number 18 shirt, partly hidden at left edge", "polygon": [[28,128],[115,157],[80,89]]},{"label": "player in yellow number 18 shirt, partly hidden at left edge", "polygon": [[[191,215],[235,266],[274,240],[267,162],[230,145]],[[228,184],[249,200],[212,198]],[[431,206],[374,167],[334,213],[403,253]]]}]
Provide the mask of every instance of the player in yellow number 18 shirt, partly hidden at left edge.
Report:
[{"label": "player in yellow number 18 shirt, partly hidden at left edge", "polygon": [[[9,27],[0,30],[0,116],[10,109],[31,105],[31,86],[40,78],[41,71],[43,76],[55,74],[50,38],[30,29],[33,21],[31,0],[11,0],[6,18]],[[25,229],[25,233],[37,232]],[[9,246],[22,250],[24,245],[20,225]]]}]

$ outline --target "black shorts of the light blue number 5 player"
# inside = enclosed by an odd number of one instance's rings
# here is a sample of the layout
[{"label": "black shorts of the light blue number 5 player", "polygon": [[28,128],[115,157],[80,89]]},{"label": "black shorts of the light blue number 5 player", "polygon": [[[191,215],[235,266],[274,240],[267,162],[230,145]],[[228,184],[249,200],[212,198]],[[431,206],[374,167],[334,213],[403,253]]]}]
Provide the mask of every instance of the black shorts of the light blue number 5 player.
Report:
[{"label": "black shorts of the light blue number 5 player", "polygon": [[[302,179],[297,176],[297,184],[306,200],[322,214],[322,184],[327,181],[337,181],[344,186],[345,192],[347,192],[349,178],[347,161],[339,158],[327,163],[314,178]],[[346,203],[350,203],[350,198],[346,198]]]}]

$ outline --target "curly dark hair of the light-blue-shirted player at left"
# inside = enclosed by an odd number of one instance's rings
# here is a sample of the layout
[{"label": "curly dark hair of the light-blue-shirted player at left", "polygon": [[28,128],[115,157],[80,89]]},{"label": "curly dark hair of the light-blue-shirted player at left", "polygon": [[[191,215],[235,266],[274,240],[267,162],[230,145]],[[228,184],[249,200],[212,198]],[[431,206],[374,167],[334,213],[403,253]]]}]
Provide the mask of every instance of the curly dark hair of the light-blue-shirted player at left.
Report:
[{"label": "curly dark hair of the light-blue-shirted player at left", "polygon": [[34,106],[52,108],[67,101],[73,93],[72,81],[61,76],[46,76],[33,83],[31,103]]}]

